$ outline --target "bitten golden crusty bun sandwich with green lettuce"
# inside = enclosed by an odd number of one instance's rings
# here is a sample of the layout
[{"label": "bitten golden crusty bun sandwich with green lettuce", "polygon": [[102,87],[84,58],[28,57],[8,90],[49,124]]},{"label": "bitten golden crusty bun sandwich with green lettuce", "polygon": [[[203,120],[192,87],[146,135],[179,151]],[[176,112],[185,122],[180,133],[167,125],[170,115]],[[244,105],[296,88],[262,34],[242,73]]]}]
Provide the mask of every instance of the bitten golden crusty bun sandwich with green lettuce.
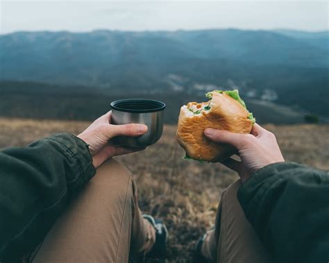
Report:
[{"label": "bitten golden crusty bun sandwich with green lettuce", "polygon": [[237,90],[212,91],[210,101],[190,102],[180,108],[177,139],[187,158],[206,162],[221,162],[235,152],[232,146],[216,144],[205,137],[205,128],[250,133],[255,119],[246,110]]}]

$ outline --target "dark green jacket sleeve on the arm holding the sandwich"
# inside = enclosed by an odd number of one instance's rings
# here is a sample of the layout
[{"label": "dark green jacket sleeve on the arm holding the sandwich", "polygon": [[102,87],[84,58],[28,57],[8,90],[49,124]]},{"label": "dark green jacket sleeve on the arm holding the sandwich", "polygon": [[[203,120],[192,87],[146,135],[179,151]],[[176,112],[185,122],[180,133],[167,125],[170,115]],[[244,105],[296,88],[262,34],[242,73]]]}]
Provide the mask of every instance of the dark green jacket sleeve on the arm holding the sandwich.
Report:
[{"label": "dark green jacket sleeve on the arm holding the sandwich", "polygon": [[246,218],[278,262],[329,262],[329,174],[270,164],[237,194]]}]

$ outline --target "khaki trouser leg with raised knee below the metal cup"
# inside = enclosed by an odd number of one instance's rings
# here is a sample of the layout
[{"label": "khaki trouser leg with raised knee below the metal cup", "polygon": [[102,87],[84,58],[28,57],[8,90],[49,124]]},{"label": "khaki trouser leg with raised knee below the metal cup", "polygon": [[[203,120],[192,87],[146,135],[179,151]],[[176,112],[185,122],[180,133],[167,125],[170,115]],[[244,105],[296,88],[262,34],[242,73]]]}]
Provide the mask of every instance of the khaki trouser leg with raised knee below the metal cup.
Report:
[{"label": "khaki trouser leg with raised knee below the metal cup", "polygon": [[97,169],[31,261],[128,262],[130,241],[136,249],[144,246],[146,230],[133,178],[112,159]]}]

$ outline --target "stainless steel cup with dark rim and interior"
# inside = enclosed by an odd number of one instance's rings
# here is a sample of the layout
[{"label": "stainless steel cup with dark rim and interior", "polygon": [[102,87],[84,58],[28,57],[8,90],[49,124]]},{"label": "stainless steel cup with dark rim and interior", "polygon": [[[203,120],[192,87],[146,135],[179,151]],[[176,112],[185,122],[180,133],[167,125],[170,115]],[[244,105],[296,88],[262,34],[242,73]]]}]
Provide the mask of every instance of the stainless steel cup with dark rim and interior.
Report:
[{"label": "stainless steel cup with dark rim and interior", "polygon": [[149,99],[121,99],[113,101],[112,124],[145,124],[147,133],[140,137],[117,137],[117,144],[146,147],[158,142],[163,130],[165,103]]}]

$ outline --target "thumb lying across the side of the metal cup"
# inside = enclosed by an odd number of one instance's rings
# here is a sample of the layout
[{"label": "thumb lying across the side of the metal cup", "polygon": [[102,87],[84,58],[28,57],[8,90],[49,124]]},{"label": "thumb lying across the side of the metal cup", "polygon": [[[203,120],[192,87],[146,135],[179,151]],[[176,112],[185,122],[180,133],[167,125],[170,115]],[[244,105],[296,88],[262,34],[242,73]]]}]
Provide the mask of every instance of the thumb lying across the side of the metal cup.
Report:
[{"label": "thumb lying across the side of the metal cup", "polygon": [[144,124],[124,124],[124,125],[108,125],[106,126],[106,134],[108,138],[117,136],[136,137],[147,132],[147,126]]}]

